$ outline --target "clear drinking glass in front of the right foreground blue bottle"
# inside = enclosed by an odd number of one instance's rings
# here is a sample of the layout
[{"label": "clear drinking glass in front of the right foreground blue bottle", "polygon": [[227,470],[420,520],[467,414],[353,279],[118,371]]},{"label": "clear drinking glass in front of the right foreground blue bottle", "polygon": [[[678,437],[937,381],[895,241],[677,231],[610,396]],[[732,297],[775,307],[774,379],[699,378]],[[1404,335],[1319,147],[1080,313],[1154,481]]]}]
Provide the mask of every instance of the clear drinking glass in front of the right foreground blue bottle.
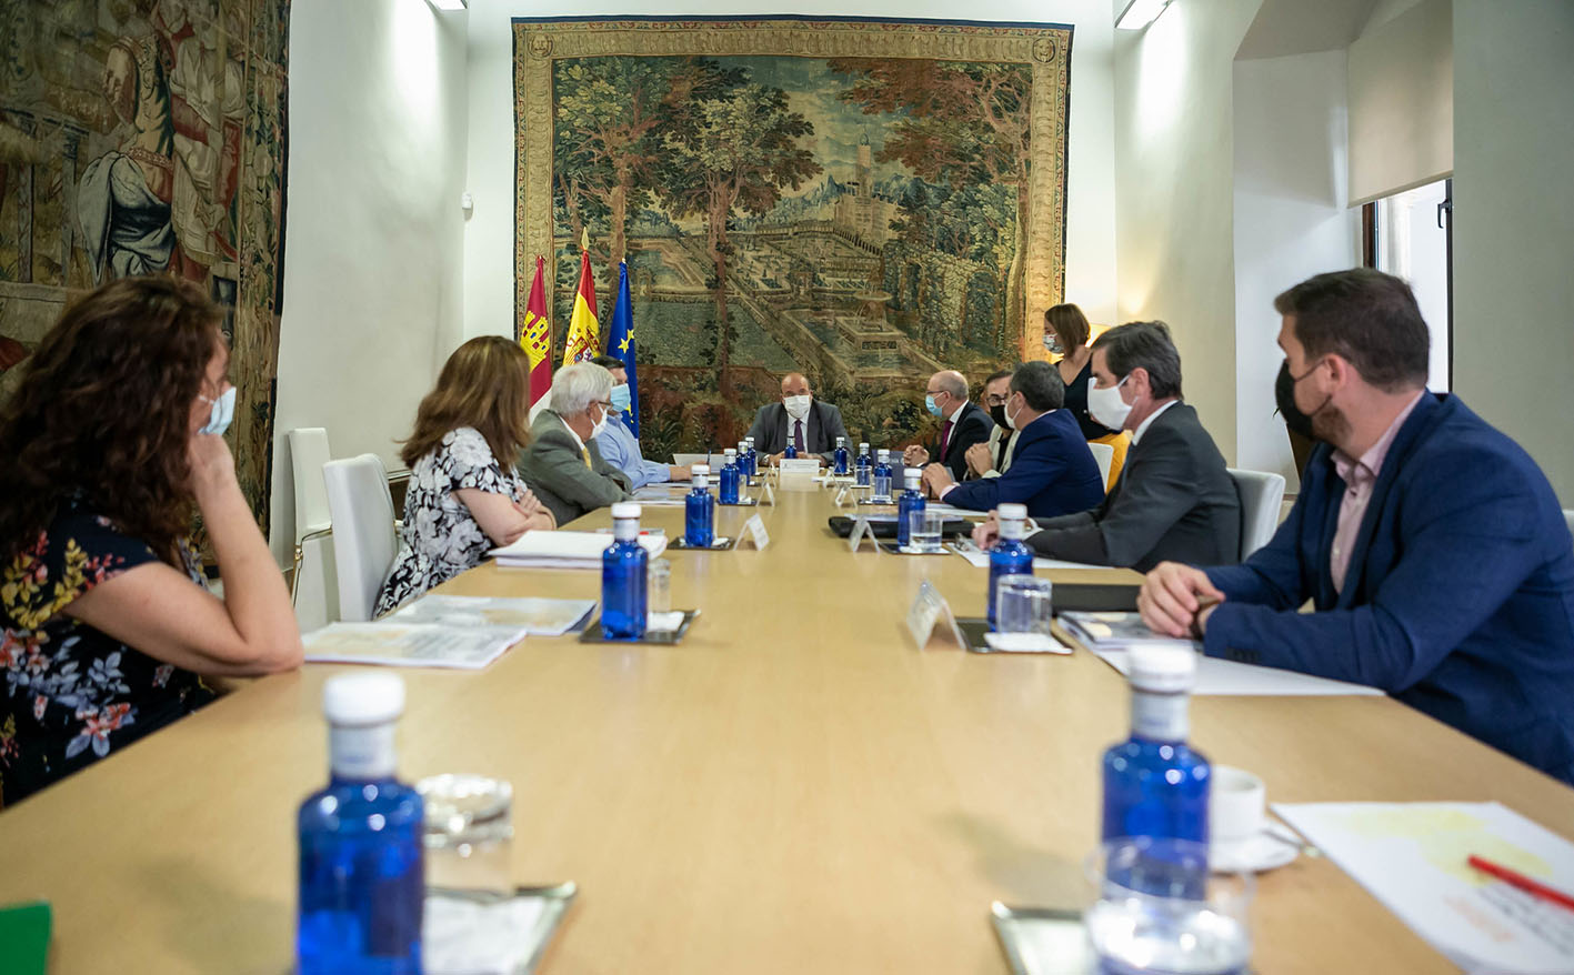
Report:
[{"label": "clear drinking glass in front of the right foreground blue bottle", "polygon": [[1251,874],[1210,873],[1207,844],[1110,840],[1088,857],[1083,914],[1103,975],[1245,975]]}]

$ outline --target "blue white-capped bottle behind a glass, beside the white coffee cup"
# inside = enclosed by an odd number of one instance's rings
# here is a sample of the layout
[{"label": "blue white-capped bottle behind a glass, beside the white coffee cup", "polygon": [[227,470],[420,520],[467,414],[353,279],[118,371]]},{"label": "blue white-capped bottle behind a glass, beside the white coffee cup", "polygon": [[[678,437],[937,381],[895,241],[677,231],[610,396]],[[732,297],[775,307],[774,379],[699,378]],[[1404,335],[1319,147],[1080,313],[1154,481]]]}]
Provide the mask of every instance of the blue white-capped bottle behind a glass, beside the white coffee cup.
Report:
[{"label": "blue white-capped bottle behind a glass, beside the white coffee cup", "polygon": [[1196,653],[1132,646],[1132,736],[1103,753],[1103,838],[1207,843],[1207,758],[1193,752],[1188,708]]}]

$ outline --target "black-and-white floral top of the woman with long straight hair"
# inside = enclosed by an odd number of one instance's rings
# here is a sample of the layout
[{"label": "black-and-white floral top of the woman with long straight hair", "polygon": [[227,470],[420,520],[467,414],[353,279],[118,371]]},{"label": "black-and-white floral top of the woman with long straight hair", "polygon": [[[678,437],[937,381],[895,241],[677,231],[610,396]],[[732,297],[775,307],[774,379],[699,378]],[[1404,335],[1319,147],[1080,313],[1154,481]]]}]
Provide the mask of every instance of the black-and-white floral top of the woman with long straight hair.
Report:
[{"label": "black-and-white floral top of the woman with long straight hair", "polygon": [[497,462],[486,437],[469,426],[445,432],[442,443],[416,461],[409,472],[400,552],[382,580],[375,616],[394,612],[439,582],[480,565],[494,547],[471,510],[455,497],[453,492],[461,488],[504,494],[513,500],[524,497],[524,481],[512,465]]}]

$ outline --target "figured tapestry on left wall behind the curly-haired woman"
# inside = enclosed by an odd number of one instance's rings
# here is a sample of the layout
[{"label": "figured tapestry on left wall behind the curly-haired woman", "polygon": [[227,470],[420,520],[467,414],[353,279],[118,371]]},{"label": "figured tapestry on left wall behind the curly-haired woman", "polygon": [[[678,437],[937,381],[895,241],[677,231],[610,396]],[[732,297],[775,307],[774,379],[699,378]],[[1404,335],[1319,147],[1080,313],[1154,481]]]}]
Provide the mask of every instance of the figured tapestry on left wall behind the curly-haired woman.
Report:
[{"label": "figured tapestry on left wall behind the curly-haired woman", "polygon": [[268,521],[290,0],[0,3],[0,398],[66,302],[173,274],[230,308],[230,443]]}]

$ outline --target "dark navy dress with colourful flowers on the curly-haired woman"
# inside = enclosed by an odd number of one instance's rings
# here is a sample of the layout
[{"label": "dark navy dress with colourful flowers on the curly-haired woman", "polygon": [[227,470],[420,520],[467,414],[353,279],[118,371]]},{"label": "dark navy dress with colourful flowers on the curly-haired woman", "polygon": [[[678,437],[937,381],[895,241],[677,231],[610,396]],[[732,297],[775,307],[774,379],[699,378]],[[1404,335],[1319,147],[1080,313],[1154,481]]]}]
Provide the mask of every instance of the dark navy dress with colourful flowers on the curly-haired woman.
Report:
[{"label": "dark navy dress with colourful flowers on the curly-haired woman", "polygon": [[[183,539],[194,585],[206,587]],[[80,495],[0,569],[0,808],[214,700],[201,679],[66,616],[101,582],[159,561]]]}]

